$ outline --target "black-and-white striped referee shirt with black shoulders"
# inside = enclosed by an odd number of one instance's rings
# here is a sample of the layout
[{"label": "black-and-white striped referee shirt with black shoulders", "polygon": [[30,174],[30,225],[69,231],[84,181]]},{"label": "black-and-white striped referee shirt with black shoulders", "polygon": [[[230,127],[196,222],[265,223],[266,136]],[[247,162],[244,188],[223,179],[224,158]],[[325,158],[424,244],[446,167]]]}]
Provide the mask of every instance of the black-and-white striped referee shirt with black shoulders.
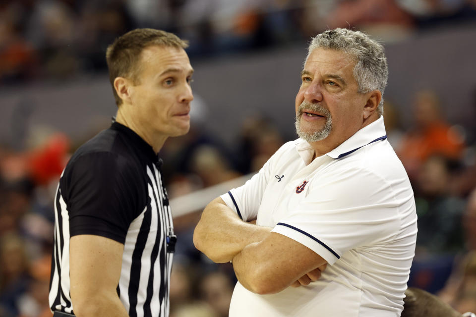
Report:
[{"label": "black-and-white striped referee shirt with black shoulders", "polygon": [[55,198],[52,311],[74,314],[69,239],[92,234],[124,244],[117,291],[129,316],[169,316],[175,236],[161,164],[149,144],[117,122],[71,157]]}]

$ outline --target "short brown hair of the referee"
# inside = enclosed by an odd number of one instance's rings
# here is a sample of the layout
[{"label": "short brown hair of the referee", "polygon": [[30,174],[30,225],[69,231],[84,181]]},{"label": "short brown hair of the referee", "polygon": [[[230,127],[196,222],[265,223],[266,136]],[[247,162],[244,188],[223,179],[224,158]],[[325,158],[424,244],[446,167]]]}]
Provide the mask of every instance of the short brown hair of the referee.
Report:
[{"label": "short brown hair of the referee", "polygon": [[109,68],[109,80],[113,86],[116,105],[122,104],[114,80],[116,77],[126,77],[137,82],[139,60],[142,51],[150,46],[166,46],[186,49],[188,42],[181,40],[177,35],[155,29],[135,29],[117,38],[106,51],[106,61]]}]

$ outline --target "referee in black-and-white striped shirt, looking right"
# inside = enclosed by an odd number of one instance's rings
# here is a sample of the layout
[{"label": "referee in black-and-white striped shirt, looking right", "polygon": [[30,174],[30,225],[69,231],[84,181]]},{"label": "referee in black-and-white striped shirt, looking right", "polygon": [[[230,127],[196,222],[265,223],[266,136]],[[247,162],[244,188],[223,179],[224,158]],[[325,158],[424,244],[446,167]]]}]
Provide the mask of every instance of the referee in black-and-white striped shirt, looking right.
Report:
[{"label": "referee in black-and-white striped shirt, looking right", "polygon": [[176,237],[157,153],[188,132],[187,43],[160,30],[119,37],[106,58],[118,105],[81,146],[55,198],[49,302],[54,316],[169,316]]}]

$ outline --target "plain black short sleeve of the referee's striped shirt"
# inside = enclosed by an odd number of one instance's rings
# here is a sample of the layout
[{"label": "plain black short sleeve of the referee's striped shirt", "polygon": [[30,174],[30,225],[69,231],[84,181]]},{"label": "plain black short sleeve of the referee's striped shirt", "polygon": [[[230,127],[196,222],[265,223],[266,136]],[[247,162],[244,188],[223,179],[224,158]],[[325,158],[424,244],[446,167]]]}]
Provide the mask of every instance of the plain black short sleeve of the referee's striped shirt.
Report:
[{"label": "plain black short sleeve of the referee's striped shirt", "polygon": [[[63,175],[70,235],[92,234],[120,243],[145,206],[137,168],[108,152],[76,159]],[[143,193],[143,191],[142,191]]]}]

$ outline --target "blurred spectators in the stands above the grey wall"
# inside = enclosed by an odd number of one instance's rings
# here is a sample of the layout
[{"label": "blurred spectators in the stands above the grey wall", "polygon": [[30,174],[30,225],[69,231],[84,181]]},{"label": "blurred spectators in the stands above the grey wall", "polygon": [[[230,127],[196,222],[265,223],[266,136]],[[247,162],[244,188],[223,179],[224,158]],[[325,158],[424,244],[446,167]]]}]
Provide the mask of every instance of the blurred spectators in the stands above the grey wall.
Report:
[{"label": "blurred spectators in the stands above the grey wall", "polygon": [[4,0],[0,83],[103,71],[113,40],[137,27],[190,41],[192,57],[303,43],[354,27],[386,40],[475,20],[475,0]]}]

